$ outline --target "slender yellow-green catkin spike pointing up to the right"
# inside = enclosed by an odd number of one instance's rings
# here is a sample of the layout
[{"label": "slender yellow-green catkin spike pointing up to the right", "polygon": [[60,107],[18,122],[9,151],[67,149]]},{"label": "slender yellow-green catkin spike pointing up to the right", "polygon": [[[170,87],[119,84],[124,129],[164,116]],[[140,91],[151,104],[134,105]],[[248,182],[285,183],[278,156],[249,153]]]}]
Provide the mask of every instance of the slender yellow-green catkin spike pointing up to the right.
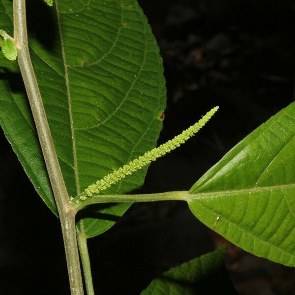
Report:
[{"label": "slender yellow-green catkin spike pointing up to the right", "polygon": [[143,156],[139,156],[113,173],[97,180],[95,183],[89,185],[85,190],[85,194],[80,196],[80,200],[85,200],[87,197],[91,197],[94,194],[99,194],[100,191],[107,189],[112,184],[118,182],[127,175],[131,175],[133,172],[143,168],[144,166],[155,161],[157,158],[165,155],[173,149],[176,149],[189,138],[191,138],[195,133],[197,133],[207,121],[216,113],[218,107],[210,110],[204,117],[202,117],[197,123],[190,126],[188,129],[184,130],[181,134],[177,135],[174,139],[169,140],[167,143],[154,148],[146,152]]}]

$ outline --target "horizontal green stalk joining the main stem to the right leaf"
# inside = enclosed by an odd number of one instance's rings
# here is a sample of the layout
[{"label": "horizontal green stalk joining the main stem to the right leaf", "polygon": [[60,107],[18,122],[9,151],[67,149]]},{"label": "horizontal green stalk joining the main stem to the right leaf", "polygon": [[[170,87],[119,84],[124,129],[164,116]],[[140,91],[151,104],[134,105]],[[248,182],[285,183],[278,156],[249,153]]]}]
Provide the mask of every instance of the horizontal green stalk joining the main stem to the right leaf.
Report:
[{"label": "horizontal green stalk joining the main stem to the right leaf", "polygon": [[176,191],[166,192],[158,194],[147,194],[147,195],[97,195],[88,197],[84,201],[75,202],[74,198],[72,203],[73,207],[77,211],[83,209],[92,204],[100,203],[128,203],[128,202],[156,202],[156,201],[190,201],[195,197],[194,194],[190,194],[188,191]]}]

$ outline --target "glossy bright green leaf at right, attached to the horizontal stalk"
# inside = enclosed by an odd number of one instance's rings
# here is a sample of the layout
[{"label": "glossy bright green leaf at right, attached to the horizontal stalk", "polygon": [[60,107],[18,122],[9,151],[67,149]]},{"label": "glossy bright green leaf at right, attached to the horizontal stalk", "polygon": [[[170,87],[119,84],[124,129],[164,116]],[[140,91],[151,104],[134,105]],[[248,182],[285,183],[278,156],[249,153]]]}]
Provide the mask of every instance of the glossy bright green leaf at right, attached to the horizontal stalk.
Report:
[{"label": "glossy bright green leaf at right, attached to the horizontal stalk", "polygon": [[295,266],[295,103],[230,150],[190,189],[209,228],[242,249]]}]

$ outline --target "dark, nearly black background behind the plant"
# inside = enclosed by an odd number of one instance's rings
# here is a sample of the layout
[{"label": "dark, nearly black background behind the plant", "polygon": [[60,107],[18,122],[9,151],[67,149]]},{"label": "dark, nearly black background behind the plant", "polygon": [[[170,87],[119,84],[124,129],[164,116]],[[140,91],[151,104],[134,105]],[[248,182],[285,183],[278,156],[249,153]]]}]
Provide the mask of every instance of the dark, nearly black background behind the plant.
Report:
[{"label": "dark, nearly black background behind the plant", "polygon": [[[215,105],[193,140],[153,163],[140,192],[187,190],[245,135],[295,100],[295,3],[139,0],[160,46],[168,103],[159,143]],[[0,295],[69,294],[59,220],[0,135]],[[89,240],[97,294],[139,294],[171,266],[225,241],[180,202],[135,204]],[[228,243],[239,294],[295,294],[295,270]]]}]

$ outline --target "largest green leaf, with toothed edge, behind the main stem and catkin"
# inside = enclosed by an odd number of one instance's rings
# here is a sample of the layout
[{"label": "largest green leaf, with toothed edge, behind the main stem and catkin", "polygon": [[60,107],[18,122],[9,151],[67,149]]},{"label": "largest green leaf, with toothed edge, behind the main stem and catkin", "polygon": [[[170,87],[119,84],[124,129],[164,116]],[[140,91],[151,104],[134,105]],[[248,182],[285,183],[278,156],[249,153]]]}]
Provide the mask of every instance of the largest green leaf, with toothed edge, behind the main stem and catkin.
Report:
[{"label": "largest green leaf, with toothed edge, behind the main stem and catkin", "polygon": [[[28,1],[29,45],[64,181],[74,197],[154,148],[166,89],[159,49],[136,0],[54,4]],[[0,0],[0,28],[8,33],[11,6],[10,0]],[[16,73],[14,63],[1,58],[0,65]],[[56,212],[25,95],[0,82],[2,128],[36,190]],[[145,174],[146,169],[139,171],[105,193],[135,189]],[[110,228],[129,206],[84,214],[87,236]]]}]

